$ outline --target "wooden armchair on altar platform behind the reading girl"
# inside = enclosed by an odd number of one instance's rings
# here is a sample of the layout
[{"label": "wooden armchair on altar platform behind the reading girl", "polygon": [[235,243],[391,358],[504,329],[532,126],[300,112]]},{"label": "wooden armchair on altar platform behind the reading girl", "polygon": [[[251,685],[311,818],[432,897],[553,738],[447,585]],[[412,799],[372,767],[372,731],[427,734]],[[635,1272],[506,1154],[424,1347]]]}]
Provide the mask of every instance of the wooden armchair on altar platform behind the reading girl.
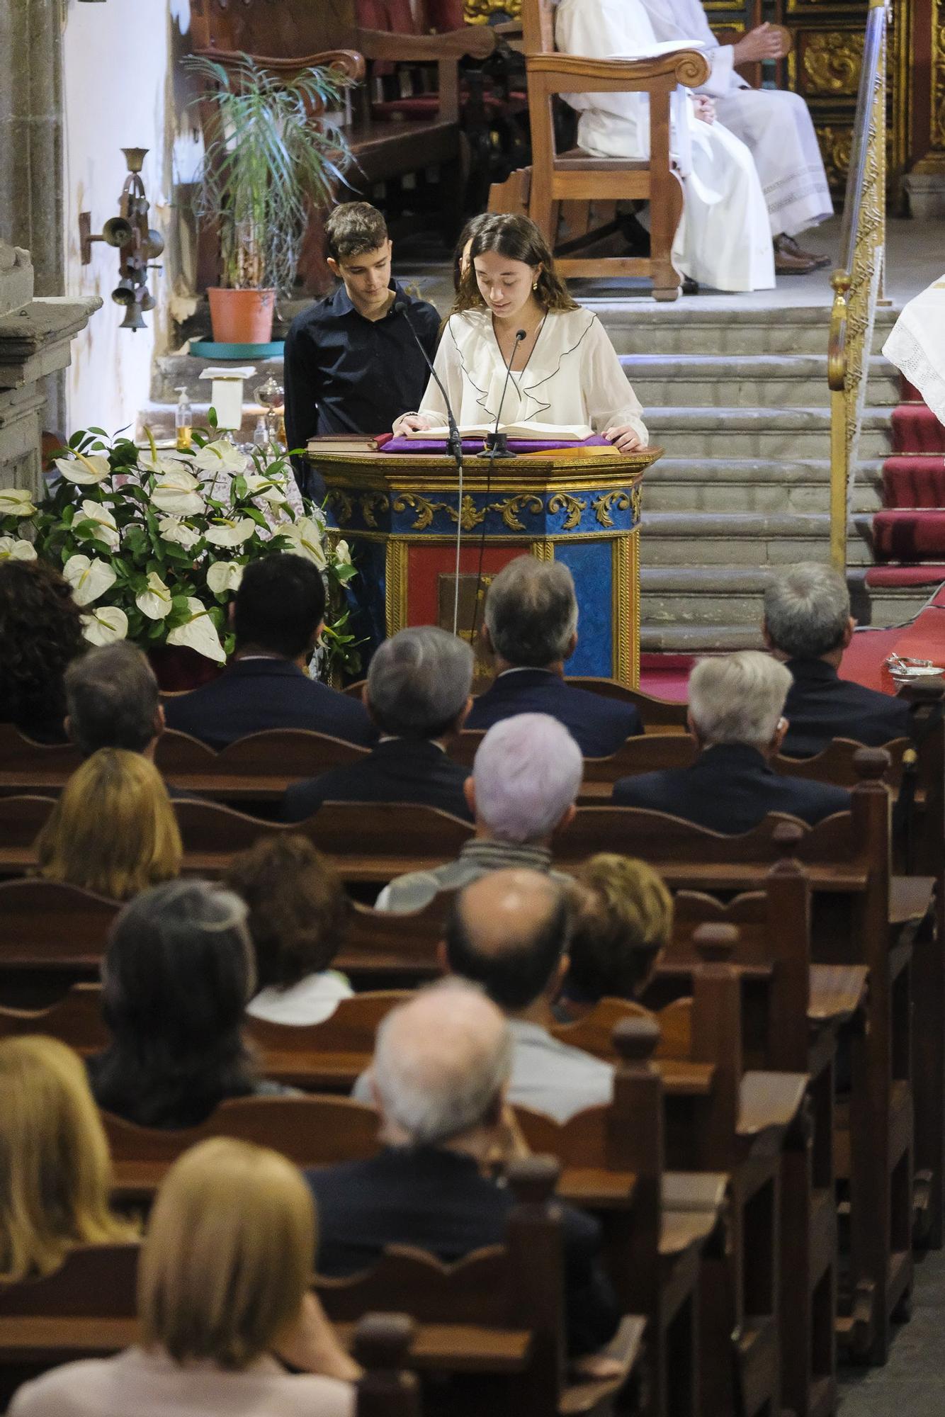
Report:
[{"label": "wooden armchair on altar platform behind the reading girl", "polygon": [[[683,187],[670,157],[670,95],[677,84],[697,88],[708,78],[706,58],[681,50],[659,60],[591,60],[560,54],[554,47],[553,0],[523,0],[531,167],[527,173],[527,211],[557,244],[564,203],[649,201],[652,252],[640,256],[555,256],[564,276],[647,276],[657,300],[679,296],[680,275],[672,261],[673,238],[683,213]],[[553,105],[558,95],[619,92],[649,95],[650,156],[646,160],[594,157],[579,147],[555,149]],[[493,186],[490,211],[523,207],[523,173]]]}]

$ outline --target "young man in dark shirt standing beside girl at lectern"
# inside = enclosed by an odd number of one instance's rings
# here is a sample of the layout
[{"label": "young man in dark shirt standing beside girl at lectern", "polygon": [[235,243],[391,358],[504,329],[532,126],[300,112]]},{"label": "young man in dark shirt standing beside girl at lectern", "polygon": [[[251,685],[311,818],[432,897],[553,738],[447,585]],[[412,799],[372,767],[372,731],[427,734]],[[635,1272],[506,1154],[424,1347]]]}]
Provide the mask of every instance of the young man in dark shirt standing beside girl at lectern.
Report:
[{"label": "young man in dark shirt standing beside girl at lectern", "polygon": [[[347,201],[329,217],[324,238],[341,285],[296,316],[286,337],[289,448],[323,434],[390,432],[395,418],[419,408],[429,377],[414,334],[431,359],[436,350],[439,315],[391,279],[381,213]],[[303,492],[323,492],[300,458],[295,469]]]}]

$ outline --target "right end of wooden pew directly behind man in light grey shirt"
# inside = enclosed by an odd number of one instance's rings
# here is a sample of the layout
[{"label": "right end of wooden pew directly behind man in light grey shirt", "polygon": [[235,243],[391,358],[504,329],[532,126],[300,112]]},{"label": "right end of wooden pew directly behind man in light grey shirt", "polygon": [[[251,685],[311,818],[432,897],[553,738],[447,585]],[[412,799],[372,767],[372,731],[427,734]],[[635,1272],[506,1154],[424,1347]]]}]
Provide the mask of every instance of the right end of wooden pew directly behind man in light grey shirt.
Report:
[{"label": "right end of wooden pew directly behind man in light grey shirt", "polygon": [[628,1017],[618,1029],[609,1107],[564,1124],[527,1108],[517,1115],[530,1145],[560,1161],[558,1195],[596,1212],[621,1306],[646,1318],[643,1411],[693,1417],[700,1410],[700,1260],[707,1243],[724,1246],[727,1178],[666,1173],[663,1083],[650,1061],[659,1029],[646,1017]]}]

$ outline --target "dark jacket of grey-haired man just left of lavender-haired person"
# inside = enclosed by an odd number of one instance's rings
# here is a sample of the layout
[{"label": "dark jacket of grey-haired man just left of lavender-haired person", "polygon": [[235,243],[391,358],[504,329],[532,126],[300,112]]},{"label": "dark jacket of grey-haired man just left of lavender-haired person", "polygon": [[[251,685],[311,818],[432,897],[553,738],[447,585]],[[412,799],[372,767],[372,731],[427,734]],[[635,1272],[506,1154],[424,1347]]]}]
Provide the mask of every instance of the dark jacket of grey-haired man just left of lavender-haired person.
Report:
[{"label": "dark jacket of grey-haired man just left of lavender-haired person", "polygon": [[282,798],[282,820],[305,822],[323,802],[418,802],[469,822],[469,769],[426,738],[387,738],[360,762],[296,782]]}]

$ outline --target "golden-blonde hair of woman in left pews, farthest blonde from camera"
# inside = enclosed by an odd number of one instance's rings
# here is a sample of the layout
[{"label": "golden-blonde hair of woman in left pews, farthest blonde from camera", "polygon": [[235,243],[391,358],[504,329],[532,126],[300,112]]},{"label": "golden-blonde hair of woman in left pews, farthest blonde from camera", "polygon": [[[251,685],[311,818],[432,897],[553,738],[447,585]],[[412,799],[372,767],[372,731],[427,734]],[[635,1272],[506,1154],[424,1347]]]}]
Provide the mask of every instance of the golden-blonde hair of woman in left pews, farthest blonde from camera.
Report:
[{"label": "golden-blonde hair of woman in left pews, farthest blonde from camera", "polygon": [[35,840],[40,874],[130,900],[180,873],[180,832],[153,762],[99,748],[75,769]]}]

